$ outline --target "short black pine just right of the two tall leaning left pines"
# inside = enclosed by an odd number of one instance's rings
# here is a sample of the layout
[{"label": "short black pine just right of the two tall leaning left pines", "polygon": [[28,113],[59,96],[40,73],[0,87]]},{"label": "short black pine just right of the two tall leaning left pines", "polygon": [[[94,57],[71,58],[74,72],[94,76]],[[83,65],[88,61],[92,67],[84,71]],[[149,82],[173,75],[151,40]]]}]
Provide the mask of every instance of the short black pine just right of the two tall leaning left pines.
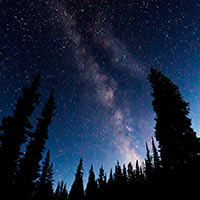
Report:
[{"label": "short black pine just right of the two tall leaning left pines", "polygon": [[53,198],[53,165],[50,163],[49,151],[43,162],[42,174],[37,185],[35,199],[51,200]]}]

